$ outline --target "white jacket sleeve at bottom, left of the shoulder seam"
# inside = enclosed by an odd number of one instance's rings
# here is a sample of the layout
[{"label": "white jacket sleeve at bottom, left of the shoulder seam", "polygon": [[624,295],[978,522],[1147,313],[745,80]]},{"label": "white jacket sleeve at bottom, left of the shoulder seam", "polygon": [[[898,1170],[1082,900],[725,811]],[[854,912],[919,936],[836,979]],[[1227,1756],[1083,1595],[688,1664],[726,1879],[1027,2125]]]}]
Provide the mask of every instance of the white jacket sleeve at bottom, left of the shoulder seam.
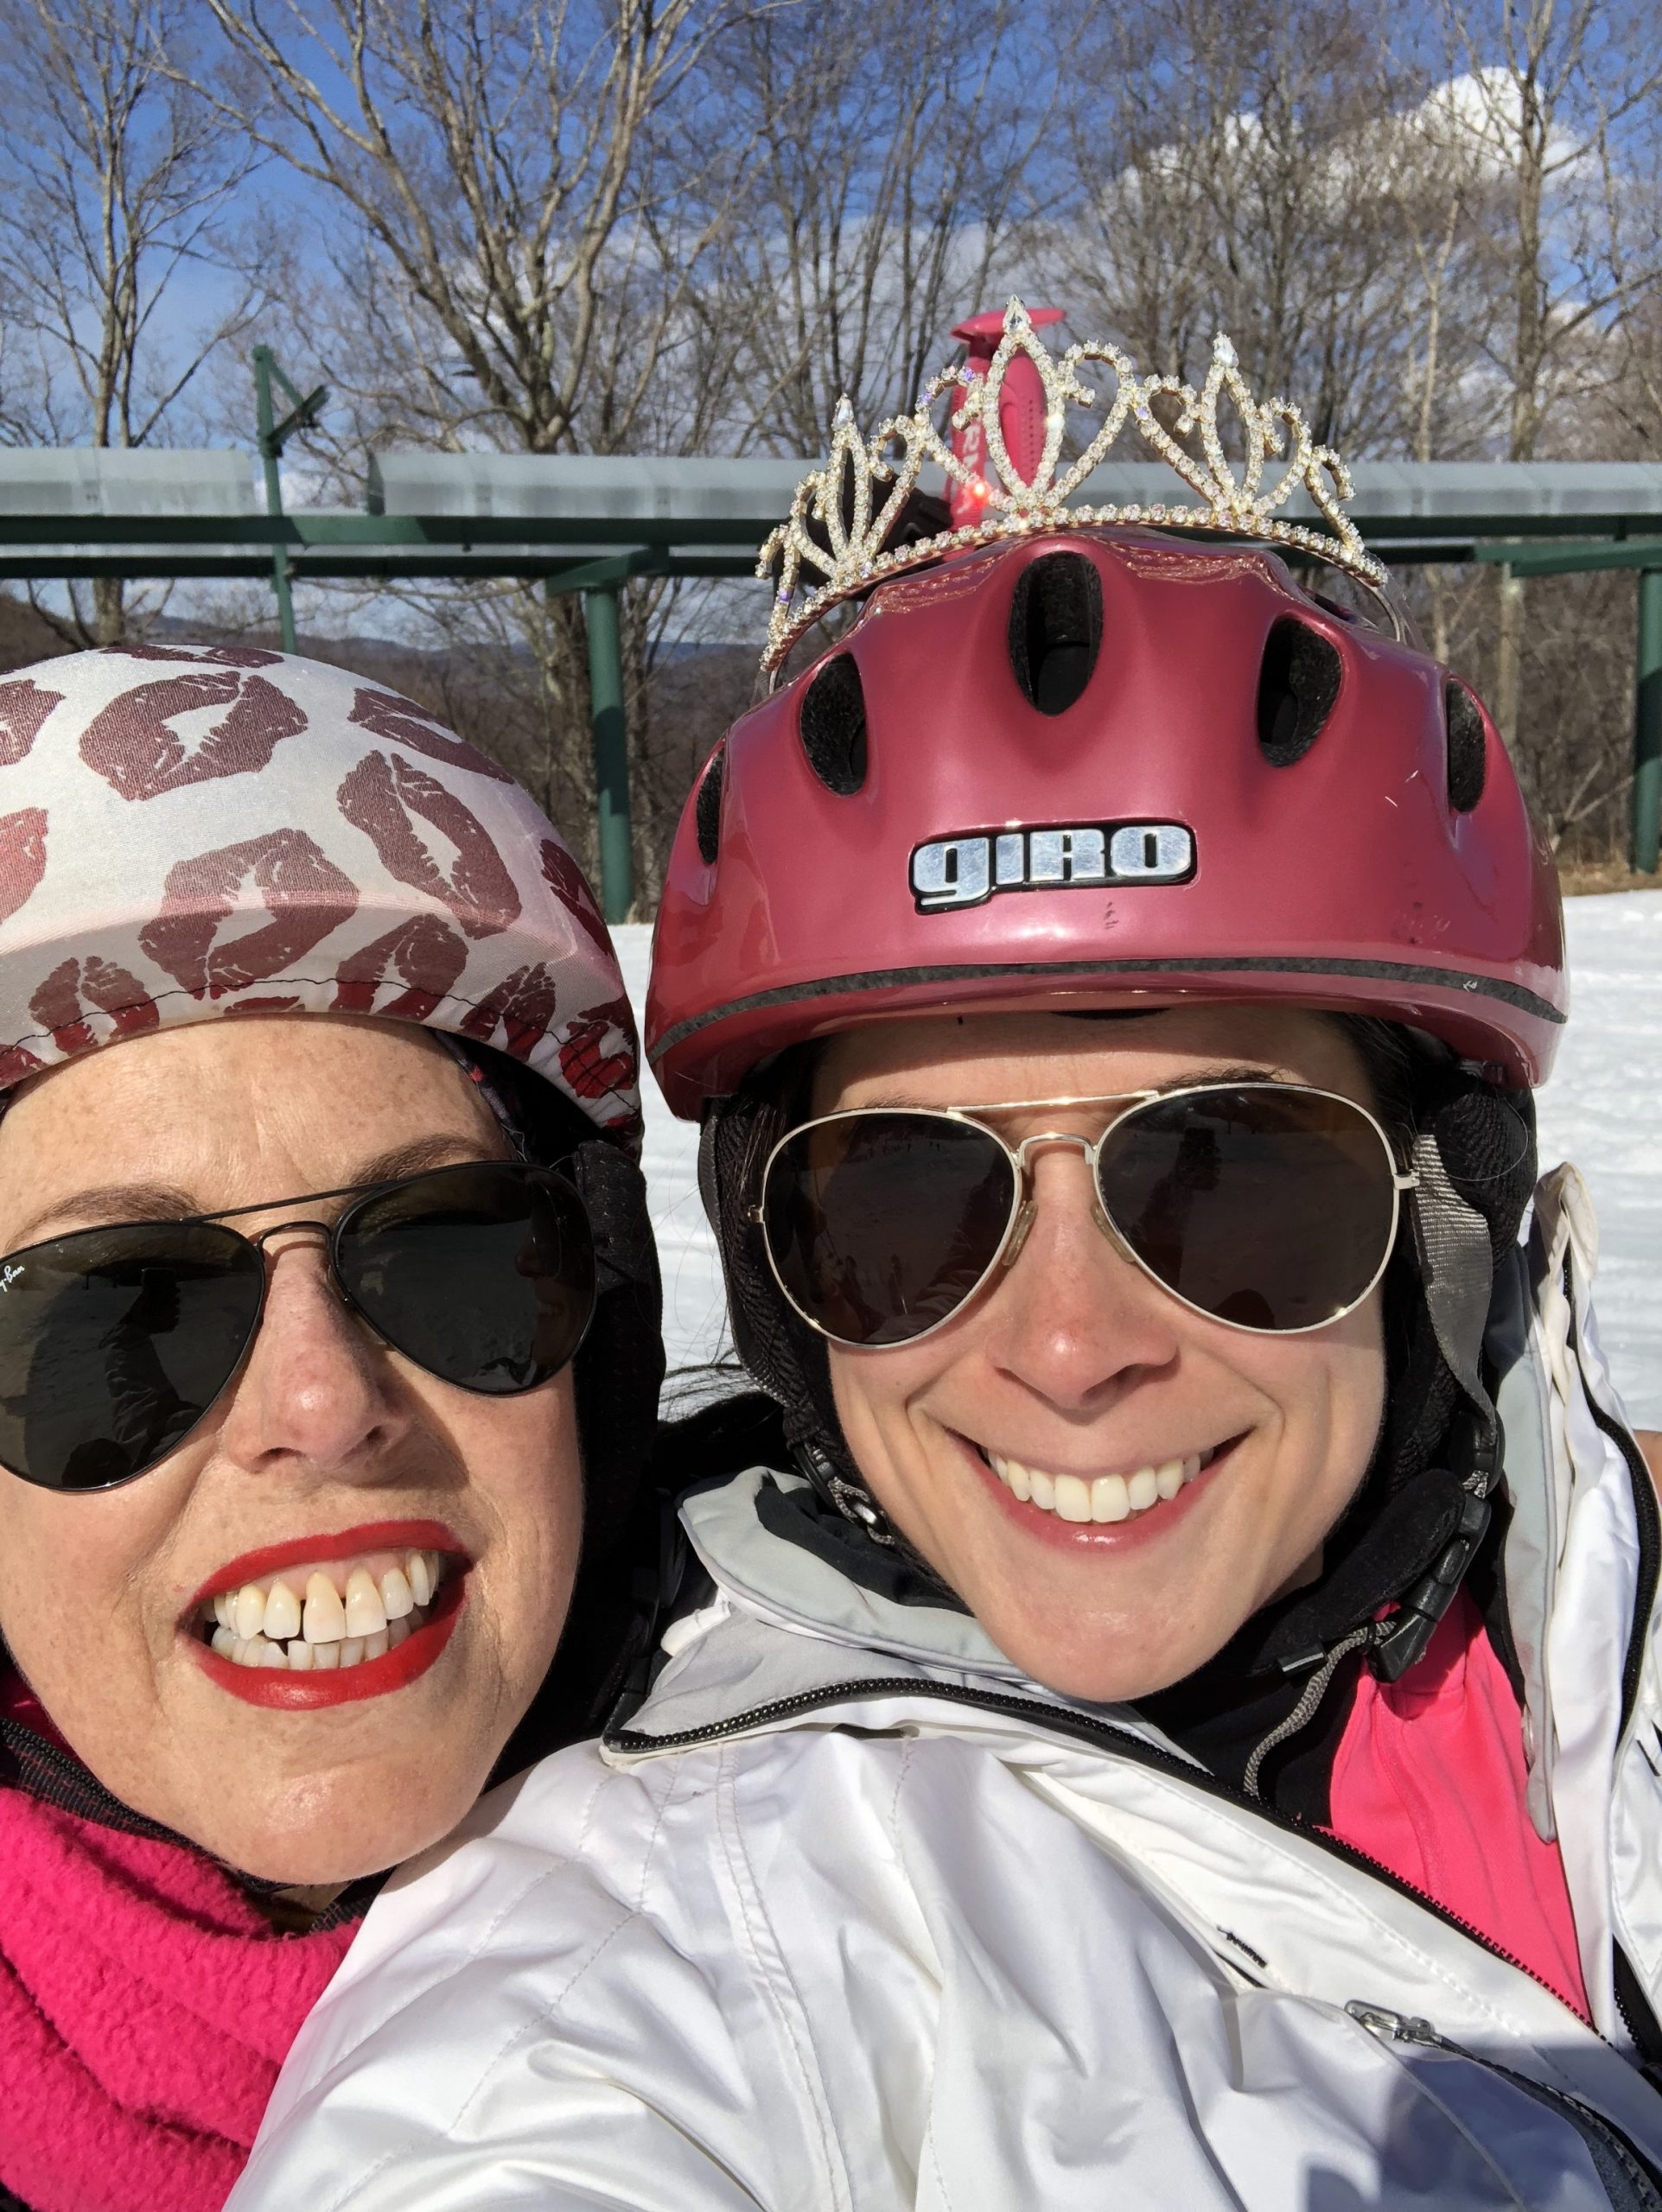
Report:
[{"label": "white jacket sleeve at bottom, left of the shoulder seam", "polygon": [[[662,1803],[682,1778],[668,1767],[637,1781],[586,1745],[562,1752],[387,1887],[290,2053],[228,2212],[845,2201],[766,1975],[721,1909],[702,1807],[677,1820]],[[659,1898],[653,1845],[677,1827]],[[688,1882],[699,1865],[708,1880]]]}]

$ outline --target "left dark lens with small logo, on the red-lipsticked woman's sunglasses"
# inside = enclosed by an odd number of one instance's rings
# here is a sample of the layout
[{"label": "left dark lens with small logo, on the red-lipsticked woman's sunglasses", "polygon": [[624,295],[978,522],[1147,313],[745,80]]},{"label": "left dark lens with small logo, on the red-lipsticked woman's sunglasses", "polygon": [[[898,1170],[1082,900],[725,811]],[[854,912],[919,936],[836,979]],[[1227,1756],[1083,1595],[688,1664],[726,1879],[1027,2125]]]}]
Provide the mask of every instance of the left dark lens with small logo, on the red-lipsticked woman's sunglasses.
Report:
[{"label": "left dark lens with small logo, on the red-lipsticked woman's sunglasses", "polygon": [[259,1254],[215,1223],[126,1223],[0,1261],[0,1462],[102,1491],[166,1458],[237,1374]]}]

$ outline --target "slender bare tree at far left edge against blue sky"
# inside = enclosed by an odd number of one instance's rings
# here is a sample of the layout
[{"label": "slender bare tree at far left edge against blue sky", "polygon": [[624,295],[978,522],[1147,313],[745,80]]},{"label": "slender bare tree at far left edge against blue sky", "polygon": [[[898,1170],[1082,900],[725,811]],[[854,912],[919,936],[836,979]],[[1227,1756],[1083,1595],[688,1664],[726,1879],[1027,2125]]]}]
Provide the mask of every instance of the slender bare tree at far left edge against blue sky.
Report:
[{"label": "slender bare tree at far left edge against blue sky", "polygon": [[[173,75],[184,0],[0,0],[0,303],[11,442],[166,442],[204,367],[250,321],[230,215],[255,150]],[[29,354],[27,383],[15,356]],[[120,637],[117,577],[73,641]]]}]

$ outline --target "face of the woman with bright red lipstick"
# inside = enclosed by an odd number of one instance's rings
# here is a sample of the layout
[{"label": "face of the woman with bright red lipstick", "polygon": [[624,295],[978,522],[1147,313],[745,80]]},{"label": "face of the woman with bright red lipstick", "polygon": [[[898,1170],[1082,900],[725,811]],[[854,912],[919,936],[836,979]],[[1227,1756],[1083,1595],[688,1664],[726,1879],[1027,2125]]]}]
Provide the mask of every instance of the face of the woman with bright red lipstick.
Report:
[{"label": "face of the woman with bright red lipstick", "polygon": [[[237,1223],[257,1234],[299,1192],[505,1155],[489,1108],[416,1029],[204,1022],[89,1053],[15,1099],[0,1121],[0,1252],[277,1201]],[[370,1336],[316,1234],[274,1237],[266,1265],[255,1347],[170,1458],[84,1495],[0,1471],[0,1628],[115,1796],[232,1867],[321,1885],[407,1858],[478,1796],[564,1621],[578,1433],[569,1369],[520,1398],[474,1396]],[[288,1571],[252,1573],[248,1555],[270,1546]],[[305,1604],[310,1555],[347,1601],[359,1568],[376,1590],[396,1568],[420,1597],[412,1551],[460,1584],[451,1632],[414,1679],[274,1710],[204,1666],[199,1593],[248,1582],[270,1597],[285,1582]]]}]

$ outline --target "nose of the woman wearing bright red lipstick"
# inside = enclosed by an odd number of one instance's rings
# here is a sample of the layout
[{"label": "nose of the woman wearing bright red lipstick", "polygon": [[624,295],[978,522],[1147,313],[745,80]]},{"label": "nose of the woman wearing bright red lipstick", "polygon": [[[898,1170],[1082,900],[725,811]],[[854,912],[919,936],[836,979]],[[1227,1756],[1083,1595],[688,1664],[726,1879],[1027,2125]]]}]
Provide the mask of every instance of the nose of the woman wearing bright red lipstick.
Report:
[{"label": "nose of the woman wearing bright red lipstick", "polygon": [[239,1467],[367,1478],[407,1427],[385,1356],[341,1303],[310,1232],[266,1250],[266,1312],[219,1447]]}]

